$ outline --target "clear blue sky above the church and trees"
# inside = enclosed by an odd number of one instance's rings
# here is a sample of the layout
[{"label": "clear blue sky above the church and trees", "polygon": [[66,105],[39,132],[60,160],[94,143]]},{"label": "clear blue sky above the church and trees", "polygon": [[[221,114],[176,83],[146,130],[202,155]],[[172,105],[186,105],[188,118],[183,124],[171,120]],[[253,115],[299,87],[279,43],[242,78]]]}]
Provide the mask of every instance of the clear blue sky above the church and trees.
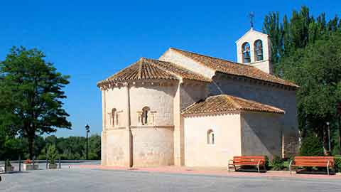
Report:
[{"label": "clear blue sky above the church and trees", "polygon": [[341,1],[1,1],[0,59],[11,46],[38,48],[65,75],[65,109],[72,130],[58,137],[102,129],[96,82],[140,57],[158,58],[169,47],[236,60],[234,42],[249,30],[250,11],[261,31],[270,11],[290,14],[302,5],[313,15],[341,16]]}]

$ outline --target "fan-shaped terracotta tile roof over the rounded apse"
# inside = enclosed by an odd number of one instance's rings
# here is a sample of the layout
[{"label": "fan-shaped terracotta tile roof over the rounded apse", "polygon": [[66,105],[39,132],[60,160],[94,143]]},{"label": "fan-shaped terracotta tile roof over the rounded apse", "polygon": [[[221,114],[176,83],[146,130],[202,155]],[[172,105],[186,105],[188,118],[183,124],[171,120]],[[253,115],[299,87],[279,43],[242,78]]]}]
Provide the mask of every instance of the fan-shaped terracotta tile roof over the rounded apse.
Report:
[{"label": "fan-shaped terracotta tile roof over the rounded apse", "polygon": [[104,82],[122,82],[127,80],[178,80],[179,78],[188,80],[200,80],[210,82],[210,79],[187,70],[174,63],[141,58],[136,63],[120,70],[111,77],[97,83],[98,86]]}]

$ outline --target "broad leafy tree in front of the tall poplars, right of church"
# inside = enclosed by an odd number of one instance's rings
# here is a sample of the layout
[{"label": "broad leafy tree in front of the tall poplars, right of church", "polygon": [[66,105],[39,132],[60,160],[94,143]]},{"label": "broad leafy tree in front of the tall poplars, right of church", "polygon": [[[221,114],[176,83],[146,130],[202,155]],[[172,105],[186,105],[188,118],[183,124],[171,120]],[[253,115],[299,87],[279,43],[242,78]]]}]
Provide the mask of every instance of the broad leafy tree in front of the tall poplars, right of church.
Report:
[{"label": "broad leafy tree in front of the tall poplars, right of church", "polygon": [[337,124],[337,105],[341,102],[341,34],[296,50],[283,58],[281,65],[283,78],[301,85],[297,96],[303,137],[317,134],[327,151],[327,122]]}]

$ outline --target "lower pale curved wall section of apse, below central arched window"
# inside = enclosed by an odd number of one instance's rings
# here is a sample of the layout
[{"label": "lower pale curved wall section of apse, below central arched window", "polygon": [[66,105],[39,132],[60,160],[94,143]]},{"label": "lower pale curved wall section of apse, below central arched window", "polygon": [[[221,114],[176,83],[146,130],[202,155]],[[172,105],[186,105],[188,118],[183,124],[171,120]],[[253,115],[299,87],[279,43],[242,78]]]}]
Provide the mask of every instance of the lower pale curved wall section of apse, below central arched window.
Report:
[{"label": "lower pale curved wall section of apse, below central arched window", "polygon": [[170,166],[173,159],[173,128],[131,129],[134,166]]}]

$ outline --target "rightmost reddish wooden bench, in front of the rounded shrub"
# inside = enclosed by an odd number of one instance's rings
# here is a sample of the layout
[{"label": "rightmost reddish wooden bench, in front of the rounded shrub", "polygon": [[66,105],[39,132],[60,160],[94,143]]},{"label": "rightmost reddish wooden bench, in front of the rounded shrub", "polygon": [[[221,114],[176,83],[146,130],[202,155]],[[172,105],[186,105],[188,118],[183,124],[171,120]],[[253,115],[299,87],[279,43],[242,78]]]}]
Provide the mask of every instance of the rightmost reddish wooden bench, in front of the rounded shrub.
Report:
[{"label": "rightmost reddish wooden bench, in front of the rounded shrub", "polygon": [[329,169],[334,167],[334,157],[333,156],[295,156],[295,158],[290,161],[289,170],[291,174],[291,168],[295,167],[297,173],[298,166],[317,166],[326,167],[327,174],[329,175]]}]

